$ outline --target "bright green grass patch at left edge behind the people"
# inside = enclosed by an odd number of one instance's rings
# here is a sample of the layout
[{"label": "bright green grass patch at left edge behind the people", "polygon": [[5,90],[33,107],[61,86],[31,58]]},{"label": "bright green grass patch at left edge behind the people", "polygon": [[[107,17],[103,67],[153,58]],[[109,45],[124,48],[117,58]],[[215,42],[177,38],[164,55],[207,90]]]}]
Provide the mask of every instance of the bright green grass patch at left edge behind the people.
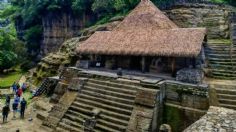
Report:
[{"label": "bright green grass patch at left edge behind the people", "polygon": [[0,75],[0,88],[6,88],[11,86],[15,81],[18,81],[23,75],[23,72],[16,71],[6,75]]}]

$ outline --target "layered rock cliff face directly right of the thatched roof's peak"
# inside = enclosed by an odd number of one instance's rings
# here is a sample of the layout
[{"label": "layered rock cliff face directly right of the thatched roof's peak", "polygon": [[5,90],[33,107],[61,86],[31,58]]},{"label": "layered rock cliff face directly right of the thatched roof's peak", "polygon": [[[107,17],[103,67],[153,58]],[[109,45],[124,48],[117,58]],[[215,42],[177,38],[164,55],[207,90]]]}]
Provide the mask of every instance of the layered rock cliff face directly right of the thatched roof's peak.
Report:
[{"label": "layered rock cliff face directly right of the thatched roof's peak", "polygon": [[214,4],[181,4],[165,12],[180,27],[206,27],[209,39],[229,39],[232,10]]}]

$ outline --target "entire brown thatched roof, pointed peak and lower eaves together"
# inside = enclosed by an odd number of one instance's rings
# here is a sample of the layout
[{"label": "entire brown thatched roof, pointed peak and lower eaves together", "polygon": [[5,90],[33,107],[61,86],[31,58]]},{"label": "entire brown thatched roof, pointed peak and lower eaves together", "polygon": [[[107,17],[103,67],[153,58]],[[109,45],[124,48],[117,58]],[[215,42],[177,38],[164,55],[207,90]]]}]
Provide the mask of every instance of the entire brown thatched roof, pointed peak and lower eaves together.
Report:
[{"label": "entire brown thatched roof, pointed peak and lower eaves together", "polygon": [[94,33],[77,48],[82,54],[195,57],[205,28],[178,28],[149,0],[140,4],[113,31]]}]

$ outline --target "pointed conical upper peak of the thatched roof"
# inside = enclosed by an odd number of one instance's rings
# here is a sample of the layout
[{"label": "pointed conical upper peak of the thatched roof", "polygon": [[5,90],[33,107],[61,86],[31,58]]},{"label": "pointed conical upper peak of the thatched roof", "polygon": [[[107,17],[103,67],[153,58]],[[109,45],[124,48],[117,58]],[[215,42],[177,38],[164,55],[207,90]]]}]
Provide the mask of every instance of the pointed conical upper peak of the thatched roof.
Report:
[{"label": "pointed conical upper peak of the thatched roof", "polygon": [[143,0],[114,30],[131,30],[133,28],[171,29],[178,28],[151,1]]}]

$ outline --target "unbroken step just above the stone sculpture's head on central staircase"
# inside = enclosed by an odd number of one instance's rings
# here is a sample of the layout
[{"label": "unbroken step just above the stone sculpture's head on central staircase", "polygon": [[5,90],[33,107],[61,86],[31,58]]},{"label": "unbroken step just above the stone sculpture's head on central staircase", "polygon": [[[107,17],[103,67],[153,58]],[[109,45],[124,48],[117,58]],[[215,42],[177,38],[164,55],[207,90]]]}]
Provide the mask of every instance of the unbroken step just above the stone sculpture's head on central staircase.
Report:
[{"label": "unbroken step just above the stone sculpture's head on central staircase", "polygon": [[125,114],[125,115],[131,115],[131,113],[132,113],[132,110],[123,109],[123,108],[120,108],[118,106],[111,106],[111,105],[103,104],[103,103],[97,102],[97,101],[83,99],[81,97],[76,98],[76,102],[89,104],[91,106],[94,106],[94,108],[98,108],[98,109],[103,108],[103,109],[106,109],[106,110],[110,110],[110,111],[117,112],[117,113],[122,113],[122,114]]}]

